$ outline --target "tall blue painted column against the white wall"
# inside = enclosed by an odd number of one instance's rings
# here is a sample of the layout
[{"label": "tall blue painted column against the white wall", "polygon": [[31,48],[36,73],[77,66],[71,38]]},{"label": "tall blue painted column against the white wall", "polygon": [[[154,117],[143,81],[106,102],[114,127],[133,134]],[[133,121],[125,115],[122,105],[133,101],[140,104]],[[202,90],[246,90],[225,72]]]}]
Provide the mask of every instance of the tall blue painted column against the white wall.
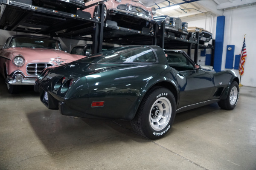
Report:
[{"label": "tall blue painted column against the white wall", "polygon": [[224,42],[224,28],[225,28],[225,16],[217,17],[214,64],[213,64],[213,68],[215,71],[221,71],[223,42]]}]

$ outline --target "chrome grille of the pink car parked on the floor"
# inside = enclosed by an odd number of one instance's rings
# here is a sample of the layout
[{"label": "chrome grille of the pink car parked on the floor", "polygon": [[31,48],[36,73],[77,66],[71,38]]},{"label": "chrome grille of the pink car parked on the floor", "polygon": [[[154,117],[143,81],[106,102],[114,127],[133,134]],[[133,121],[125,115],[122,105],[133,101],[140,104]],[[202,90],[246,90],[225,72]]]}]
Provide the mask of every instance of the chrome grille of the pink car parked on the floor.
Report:
[{"label": "chrome grille of the pink car parked on the floor", "polygon": [[52,66],[52,63],[45,63],[45,62],[39,62],[39,63],[29,63],[26,66],[26,72],[28,75],[38,75],[41,73],[41,71],[44,70],[44,68]]}]

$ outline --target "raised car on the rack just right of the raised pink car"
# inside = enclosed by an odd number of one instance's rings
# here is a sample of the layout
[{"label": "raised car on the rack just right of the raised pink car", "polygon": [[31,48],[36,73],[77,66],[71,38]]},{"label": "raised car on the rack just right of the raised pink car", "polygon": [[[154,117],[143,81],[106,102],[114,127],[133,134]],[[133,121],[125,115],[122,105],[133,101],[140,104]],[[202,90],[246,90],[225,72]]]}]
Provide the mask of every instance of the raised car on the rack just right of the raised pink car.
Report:
[{"label": "raised car on the rack just right of the raised pink car", "polygon": [[188,23],[181,22],[180,18],[169,17],[168,15],[161,15],[154,17],[159,29],[161,29],[161,22],[165,21],[165,34],[173,37],[186,39],[188,36]]}]

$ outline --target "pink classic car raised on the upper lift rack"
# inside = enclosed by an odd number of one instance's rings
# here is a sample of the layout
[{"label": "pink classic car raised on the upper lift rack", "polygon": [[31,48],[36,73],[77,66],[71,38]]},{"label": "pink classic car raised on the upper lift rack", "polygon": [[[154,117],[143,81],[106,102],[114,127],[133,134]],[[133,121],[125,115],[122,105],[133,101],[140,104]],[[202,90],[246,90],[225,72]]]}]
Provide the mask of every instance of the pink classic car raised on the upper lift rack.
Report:
[{"label": "pink classic car raised on the upper lift rack", "polygon": [[154,23],[155,8],[147,8],[139,0],[87,0],[83,11],[89,12],[92,17],[97,15],[96,6],[105,4],[104,20],[112,20],[118,26],[139,29],[151,26]]}]

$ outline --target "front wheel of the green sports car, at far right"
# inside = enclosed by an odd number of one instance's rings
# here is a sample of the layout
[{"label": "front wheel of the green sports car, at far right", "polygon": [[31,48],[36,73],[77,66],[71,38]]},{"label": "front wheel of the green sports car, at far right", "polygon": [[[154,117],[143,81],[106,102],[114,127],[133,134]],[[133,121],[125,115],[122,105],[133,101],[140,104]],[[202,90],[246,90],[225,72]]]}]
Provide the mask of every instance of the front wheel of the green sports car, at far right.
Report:
[{"label": "front wheel of the green sports car, at far right", "polygon": [[218,102],[220,108],[225,110],[233,110],[239,99],[239,85],[237,82],[232,82],[227,94],[227,98]]}]

